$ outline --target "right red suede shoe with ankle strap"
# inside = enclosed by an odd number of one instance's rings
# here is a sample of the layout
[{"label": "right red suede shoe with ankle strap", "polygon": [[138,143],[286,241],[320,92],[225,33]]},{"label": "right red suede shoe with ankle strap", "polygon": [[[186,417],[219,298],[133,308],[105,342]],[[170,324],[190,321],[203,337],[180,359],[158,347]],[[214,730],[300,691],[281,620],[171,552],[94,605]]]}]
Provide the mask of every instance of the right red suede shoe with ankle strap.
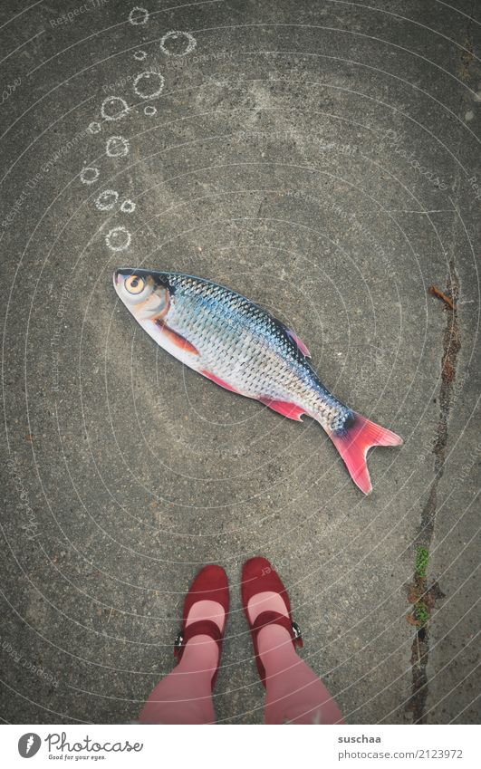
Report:
[{"label": "right red suede shoe with ankle strap", "polygon": [[[278,592],[285,603],[289,616],[286,617],[284,614],[279,614],[278,611],[261,611],[255,618],[254,625],[252,625],[247,613],[247,605],[253,596],[259,592]],[[245,562],[242,570],[242,604],[254,643],[255,663],[261,681],[265,686],[265,667],[262,664],[257,646],[259,630],[265,628],[266,625],[281,625],[286,630],[289,630],[294,646],[303,646],[301,629],[296,622],[293,622],[291,601],[289,601],[289,595],[284,587],[284,582],[266,558],[251,558]]]}]

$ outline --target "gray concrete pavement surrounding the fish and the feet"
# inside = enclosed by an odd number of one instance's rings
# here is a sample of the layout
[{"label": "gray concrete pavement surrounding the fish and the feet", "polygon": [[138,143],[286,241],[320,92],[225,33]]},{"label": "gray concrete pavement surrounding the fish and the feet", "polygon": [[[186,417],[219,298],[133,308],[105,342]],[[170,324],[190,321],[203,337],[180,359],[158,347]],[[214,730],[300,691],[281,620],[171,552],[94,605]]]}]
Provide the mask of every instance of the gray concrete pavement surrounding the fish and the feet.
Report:
[{"label": "gray concrete pavement surrounding the fish and the feet", "polygon": [[[216,715],[261,723],[239,578],[262,553],[348,722],[478,721],[475,5],[80,5],[1,10],[2,717],[135,720],[220,562]],[[116,301],[124,264],[288,321],[405,438],[372,452],[372,495],[317,424],[160,351]]]}]

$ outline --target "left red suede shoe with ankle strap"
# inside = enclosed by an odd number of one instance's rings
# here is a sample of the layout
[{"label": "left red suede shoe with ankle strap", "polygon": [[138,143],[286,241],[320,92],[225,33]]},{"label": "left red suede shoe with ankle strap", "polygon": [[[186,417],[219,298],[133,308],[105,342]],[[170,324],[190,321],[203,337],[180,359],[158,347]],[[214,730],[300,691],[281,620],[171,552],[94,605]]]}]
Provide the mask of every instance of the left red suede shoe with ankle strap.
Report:
[{"label": "left red suede shoe with ankle strap", "polygon": [[[224,620],[224,630],[219,630],[216,622],[213,620],[197,620],[191,622],[186,628],[186,622],[188,620],[188,614],[192,609],[192,606],[198,601],[216,601],[220,603],[226,613]],[[198,572],[194,582],[192,582],[186,600],[184,601],[184,613],[182,619],[182,627],[178,631],[178,636],[174,644],[174,657],[180,662],[184,654],[184,649],[188,640],[194,636],[210,636],[211,639],[216,641],[219,649],[219,658],[217,668],[214,676],[212,677],[212,688],[216,684],[217,673],[220,666],[220,656],[222,654],[222,641],[224,639],[224,632],[226,630],[227,614],[229,613],[229,583],[227,575],[221,566],[215,566],[210,564],[204,566],[203,569]]]}]

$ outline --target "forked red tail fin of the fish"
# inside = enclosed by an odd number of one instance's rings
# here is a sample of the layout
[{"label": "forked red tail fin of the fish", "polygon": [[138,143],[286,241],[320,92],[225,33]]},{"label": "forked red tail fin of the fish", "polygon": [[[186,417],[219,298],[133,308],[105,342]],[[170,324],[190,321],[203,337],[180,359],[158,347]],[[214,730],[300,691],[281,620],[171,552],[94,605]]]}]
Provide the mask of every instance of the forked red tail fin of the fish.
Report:
[{"label": "forked red tail fin of the fish", "polygon": [[370,419],[354,412],[354,422],[343,435],[329,433],[351,473],[351,478],[364,494],[370,494],[372,485],[366,462],[366,455],[372,446],[400,446],[402,438],[386,428],[381,428]]}]

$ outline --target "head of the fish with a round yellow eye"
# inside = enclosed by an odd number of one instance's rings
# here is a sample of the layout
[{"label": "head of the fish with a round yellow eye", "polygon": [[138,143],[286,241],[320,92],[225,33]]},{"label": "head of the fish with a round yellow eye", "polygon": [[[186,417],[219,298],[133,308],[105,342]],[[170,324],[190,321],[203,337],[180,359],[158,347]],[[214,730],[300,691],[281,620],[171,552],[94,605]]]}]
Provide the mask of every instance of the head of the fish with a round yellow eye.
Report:
[{"label": "head of the fish with a round yellow eye", "polygon": [[159,274],[131,267],[113,273],[113,286],[121,301],[139,322],[160,321],[168,313],[170,293]]}]

